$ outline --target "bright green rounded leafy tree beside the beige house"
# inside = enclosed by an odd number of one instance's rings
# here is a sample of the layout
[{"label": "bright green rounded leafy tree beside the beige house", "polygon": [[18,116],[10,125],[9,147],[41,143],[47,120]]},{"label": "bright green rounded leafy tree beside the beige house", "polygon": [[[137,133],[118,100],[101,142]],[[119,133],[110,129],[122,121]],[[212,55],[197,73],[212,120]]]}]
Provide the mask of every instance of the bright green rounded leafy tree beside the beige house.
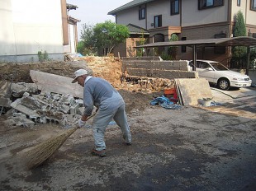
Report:
[{"label": "bright green rounded leafy tree beside the beige house", "polygon": [[93,36],[97,50],[104,50],[104,54],[110,54],[111,50],[129,37],[129,29],[111,21],[97,23],[93,28]]}]

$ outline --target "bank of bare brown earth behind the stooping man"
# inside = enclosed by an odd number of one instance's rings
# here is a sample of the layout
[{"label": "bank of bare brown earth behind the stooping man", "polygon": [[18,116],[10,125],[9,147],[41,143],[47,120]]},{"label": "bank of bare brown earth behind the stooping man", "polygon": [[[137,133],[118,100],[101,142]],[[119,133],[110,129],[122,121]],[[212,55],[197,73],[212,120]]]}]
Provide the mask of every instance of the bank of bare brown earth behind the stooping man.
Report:
[{"label": "bank of bare brown earth behind the stooping man", "polygon": [[149,101],[162,95],[163,91],[152,91],[142,88],[136,82],[121,81],[122,61],[115,57],[83,57],[73,62],[44,63],[1,63],[0,81],[31,83],[30,70],[48,72],[64,77],[73,77],[73,72],[79,68],[88,69],[94,77],[102,77],[111,83],[121,93],[126,101],[126,110],[143,110],[149,106]]}]

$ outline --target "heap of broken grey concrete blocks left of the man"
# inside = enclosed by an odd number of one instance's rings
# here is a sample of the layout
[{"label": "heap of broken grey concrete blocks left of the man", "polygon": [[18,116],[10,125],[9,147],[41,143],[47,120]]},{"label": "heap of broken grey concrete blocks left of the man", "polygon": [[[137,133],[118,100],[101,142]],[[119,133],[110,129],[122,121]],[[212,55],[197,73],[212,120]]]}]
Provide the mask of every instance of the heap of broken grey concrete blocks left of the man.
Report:
[{"label": "heap of broken grey concrete blocks left of the man", "polygon": [[[15,95],[13,92],[12,95]],[[72,126],[83,114],[83,100],[74,99],[73,95],[40,93],[30,95],[24,92],[21,98],[13,101],[12,109],[7,112],[5,123],[31,127],[37,123],[56,123]]]}]

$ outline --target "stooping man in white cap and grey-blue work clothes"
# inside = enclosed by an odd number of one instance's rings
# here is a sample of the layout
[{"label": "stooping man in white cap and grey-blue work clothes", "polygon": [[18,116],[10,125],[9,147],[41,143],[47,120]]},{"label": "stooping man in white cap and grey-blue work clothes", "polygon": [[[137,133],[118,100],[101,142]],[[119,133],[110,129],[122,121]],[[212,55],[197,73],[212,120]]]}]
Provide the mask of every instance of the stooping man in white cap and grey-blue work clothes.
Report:
[{"label": "stooping man in white cap and grey-blue work clothes", "polygon": [[95,147],[92,148],[92,155],[106,156],[104,135],[107,125],[112,119],[121,128],[126,144],[130,145],[130,127],[126,117],[125,101],[122,96],[106,80],[89,76],[87,70],[79,69],[74,72],[74,75],[72,83],[78,82],[80,86],[83,86],[83,105],[85,108],[82,118],[78,120],[80,128],[85,126],[86,119],[92,114],[93,105],[97,107],[97,114],[92,121],[95,143]]}]

